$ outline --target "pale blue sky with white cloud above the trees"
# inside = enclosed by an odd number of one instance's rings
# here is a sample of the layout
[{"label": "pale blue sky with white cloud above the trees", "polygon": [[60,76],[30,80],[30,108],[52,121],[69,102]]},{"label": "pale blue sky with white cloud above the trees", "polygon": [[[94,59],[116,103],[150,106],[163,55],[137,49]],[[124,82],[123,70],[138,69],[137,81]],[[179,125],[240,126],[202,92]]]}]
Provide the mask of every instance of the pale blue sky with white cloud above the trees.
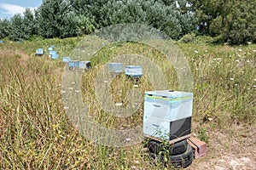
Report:
[{"label": "pale blue sky with white cloud above the trees", "polygon": [[0,0],[0,19],[22,14],[26,8],[38,8],[43,0]]}]

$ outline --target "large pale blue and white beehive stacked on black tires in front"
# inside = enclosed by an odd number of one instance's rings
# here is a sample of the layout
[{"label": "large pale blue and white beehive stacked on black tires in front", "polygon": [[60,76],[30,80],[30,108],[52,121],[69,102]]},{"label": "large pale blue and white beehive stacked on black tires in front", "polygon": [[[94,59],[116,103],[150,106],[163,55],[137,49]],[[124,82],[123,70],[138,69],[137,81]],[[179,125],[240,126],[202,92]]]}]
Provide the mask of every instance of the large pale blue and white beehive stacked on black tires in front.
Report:
[{"label": "large pale blue and white beehive stacked on black tires in front", "polygon": [[191,133],[193,94],[170,90],[145,92],[143,133],[171,142]]}]

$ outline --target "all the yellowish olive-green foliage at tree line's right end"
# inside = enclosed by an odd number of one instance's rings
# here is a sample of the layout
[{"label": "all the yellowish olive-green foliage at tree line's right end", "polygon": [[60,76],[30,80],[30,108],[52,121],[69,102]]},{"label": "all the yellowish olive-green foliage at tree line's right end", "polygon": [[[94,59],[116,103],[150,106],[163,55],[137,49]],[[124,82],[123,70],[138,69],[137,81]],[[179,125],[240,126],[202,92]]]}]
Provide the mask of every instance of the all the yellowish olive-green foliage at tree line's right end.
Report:
[{"label": "all the yellowish olive-green foliage at tree line's right end", "polygon": [[192,10],[198,18],[198,31],[216,37],[216,42],[230,44],[256,42],[255,1],[195,1]]}]

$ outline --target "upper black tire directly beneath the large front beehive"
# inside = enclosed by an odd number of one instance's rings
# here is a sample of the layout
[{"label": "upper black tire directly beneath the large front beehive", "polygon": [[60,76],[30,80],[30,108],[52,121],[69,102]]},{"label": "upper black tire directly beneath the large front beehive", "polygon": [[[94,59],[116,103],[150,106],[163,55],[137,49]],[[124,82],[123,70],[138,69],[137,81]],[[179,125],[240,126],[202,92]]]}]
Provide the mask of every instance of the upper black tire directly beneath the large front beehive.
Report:
[{"label": "upper black tire directly beneath the large front beehive", "polygon": [[169,150],[169,154],[171,156],[177,156],[180,154],[183,154],[187,150],[188,146],[188,141],[187,139],[183,139],[181,141],[178,141],[177,143],[165,146],[164,144],[155,141],[155,140],[150,140],[148,142],[148,150],[151,153],[154,154],[160,154],[160,151],[166,151]]}]

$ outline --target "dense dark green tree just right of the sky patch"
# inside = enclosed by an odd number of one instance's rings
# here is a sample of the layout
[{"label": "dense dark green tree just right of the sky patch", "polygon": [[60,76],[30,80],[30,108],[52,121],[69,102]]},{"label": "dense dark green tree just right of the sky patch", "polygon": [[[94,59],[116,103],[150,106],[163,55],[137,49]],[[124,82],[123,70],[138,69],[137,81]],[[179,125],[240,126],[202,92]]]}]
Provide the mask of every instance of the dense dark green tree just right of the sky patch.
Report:
[{"label": "dense dark green tree just right of the sky patch", "polygon": [[75,37],[81,33],[78,17],[68,0],[44,0],[36,18],[38,33],[42,37]]}]

